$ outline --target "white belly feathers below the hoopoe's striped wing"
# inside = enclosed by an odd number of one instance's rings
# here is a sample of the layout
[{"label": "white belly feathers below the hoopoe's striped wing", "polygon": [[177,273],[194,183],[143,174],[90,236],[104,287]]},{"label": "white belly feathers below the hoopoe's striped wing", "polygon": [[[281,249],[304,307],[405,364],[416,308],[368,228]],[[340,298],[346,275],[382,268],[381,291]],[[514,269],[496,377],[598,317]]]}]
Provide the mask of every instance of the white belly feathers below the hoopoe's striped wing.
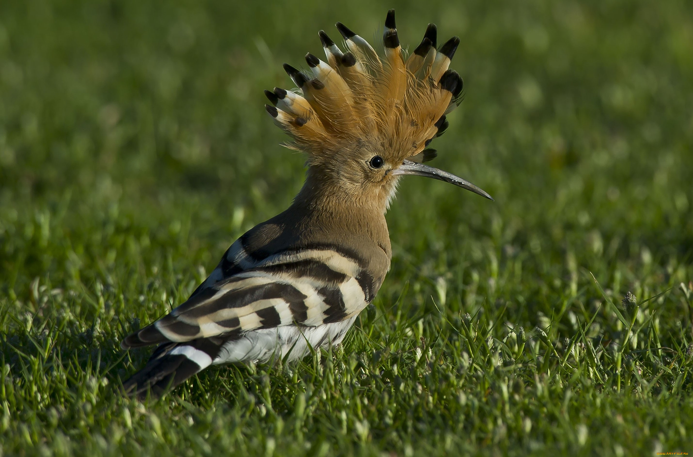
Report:
[{"label": "white belly feathers below the hoopoe's striped wing", "polygon": [[356,316],[353,316],[344,321],[315,327],[282,325],[276,328],[252,330],[239,339],[225,343],[212,363],[217,365],[267,361],[274,354],[282,359],[287,354],[288,360],[301,359],[310,352],[310,347],[317,350],[324,346],[337,346],[342,342],[355,319]]}]

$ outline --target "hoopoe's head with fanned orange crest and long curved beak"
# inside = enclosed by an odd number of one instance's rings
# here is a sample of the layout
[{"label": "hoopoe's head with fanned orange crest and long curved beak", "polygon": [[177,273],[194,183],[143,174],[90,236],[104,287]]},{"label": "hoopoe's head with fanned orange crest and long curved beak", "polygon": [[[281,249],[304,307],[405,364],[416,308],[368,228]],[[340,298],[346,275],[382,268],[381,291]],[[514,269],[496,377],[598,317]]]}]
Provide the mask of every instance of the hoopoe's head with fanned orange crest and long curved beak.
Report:
[{"label": "hoopoe's head with fanned orange crest and long curved beak", "polygon": [[436,48],[429,24],[414,52],[405,56],[394,20],[385,19],[383,50],[337,22],[346,52],[320,31],[326,62],[308,53],[310,75],[285,64],[299,91],[265,91],[274,122],[308,153],[304,191],[332,193],[385,210],[405,174],[440,179],[488,199],[472,183],[425,165],[437,156],[430,142],[448,127],[446,114],[462,100],[462,78],[448,69],[459,38]]}]

